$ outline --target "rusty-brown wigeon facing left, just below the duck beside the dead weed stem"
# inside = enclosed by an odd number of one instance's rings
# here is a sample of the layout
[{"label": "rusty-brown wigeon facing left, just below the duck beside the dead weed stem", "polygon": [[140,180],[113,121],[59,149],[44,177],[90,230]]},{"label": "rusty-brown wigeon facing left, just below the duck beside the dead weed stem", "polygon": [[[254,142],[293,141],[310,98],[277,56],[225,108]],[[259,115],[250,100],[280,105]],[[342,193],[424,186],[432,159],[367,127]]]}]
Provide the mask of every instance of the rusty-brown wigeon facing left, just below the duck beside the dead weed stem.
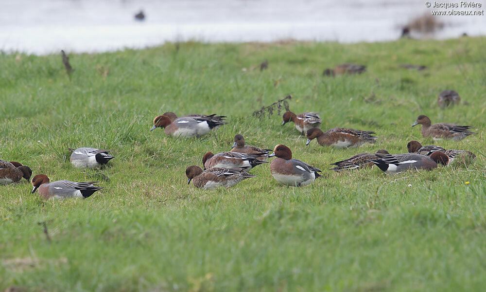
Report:
[{"label": "rusty-brown wigeon facing left, just below the duck beside the dead weed stem", "polygon": [[373,131],[347,128],[332,128],[323,132],[321,129],[312,128],[306,132],[307,143],[305,145],[309,145],[312,139],[317,138],[317,143],[321,146],[357,147],[364,143],[375,143],[378,137],[371,136],[374,133]]}]

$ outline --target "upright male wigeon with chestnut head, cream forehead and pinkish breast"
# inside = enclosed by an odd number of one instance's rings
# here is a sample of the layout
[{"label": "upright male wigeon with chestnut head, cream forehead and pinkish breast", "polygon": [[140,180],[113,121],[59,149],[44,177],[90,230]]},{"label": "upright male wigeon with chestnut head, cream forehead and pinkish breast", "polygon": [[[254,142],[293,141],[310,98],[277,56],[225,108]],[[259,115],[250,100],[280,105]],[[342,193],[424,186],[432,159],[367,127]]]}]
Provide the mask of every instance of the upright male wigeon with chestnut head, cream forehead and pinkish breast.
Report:
[{"label": "upright male wigeon with chestnut head, cream forehead and pinkish breast", "polygon": [[292,158],[292,151],[285,145],[275,146],[273,153],[268,155],[268,157],[273,156],[277,158],[270,163],[270,172],[278,183],[287,186],[305,186],[321,177],[318,173],[321,171],[319,168]]}]

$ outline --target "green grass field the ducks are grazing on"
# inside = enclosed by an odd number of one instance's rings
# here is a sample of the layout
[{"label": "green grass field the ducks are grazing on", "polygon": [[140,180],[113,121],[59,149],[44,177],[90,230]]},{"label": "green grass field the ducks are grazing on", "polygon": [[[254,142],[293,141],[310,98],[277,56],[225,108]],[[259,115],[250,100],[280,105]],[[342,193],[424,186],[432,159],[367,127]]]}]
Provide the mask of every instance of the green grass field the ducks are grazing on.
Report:
[{"label": "green grass field the ducks are grazing on", "polygon": [[[70,79],[60,55],[1,54],[0,158],[51,181],[101,180],[104,189],[86,200],[41,201],[25,180],[0,186],[0,291],[484,291],[485,44],[188,42],[70,54]],[[265,59],[268,70],[242,71]],[[346,62],[368,72],[322,76]],[[445,89],[462,104],[437,108]],[[295,113],[320,112],[321,128],[374,130],[377,144],[308,147],[277,113],[252,116],[288,94]],[[219,143],[149,132],[165,111],[217,113],[230,124],[218,129]],[[411,128],[419,114],[479,134],[434,143]],[[287,188],[262,165],[230,189],[188,185],[186,166],[229,150],[237,133],[249,145],[289,146],[324,177]],[[405,153],[412,139],[478,158],[396,176],[327,170],[359,152]],[[68,147],[82,146],[112,149],[116,159],[76,169]]]}]

